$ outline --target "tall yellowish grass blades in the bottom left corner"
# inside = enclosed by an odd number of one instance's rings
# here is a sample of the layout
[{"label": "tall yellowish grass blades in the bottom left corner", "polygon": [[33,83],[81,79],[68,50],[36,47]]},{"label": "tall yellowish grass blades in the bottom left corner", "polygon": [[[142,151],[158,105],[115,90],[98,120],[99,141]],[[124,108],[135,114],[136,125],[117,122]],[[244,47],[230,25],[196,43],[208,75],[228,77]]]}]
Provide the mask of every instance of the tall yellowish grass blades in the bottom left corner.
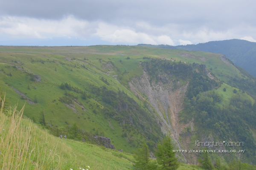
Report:
[{"label": "tall yellowish grass blades in the bottom left corner", "polygon": [[17,106],[5,111],[5,97],[0,97],[0,101],[0,169],[39,170],[62,167],[63,158],[57,152],[60,144],[48,147],[54,137],[44,134],[46,132],[32,125],[30,120],[22,119],[24,106],[20,111],[17,111]]}]

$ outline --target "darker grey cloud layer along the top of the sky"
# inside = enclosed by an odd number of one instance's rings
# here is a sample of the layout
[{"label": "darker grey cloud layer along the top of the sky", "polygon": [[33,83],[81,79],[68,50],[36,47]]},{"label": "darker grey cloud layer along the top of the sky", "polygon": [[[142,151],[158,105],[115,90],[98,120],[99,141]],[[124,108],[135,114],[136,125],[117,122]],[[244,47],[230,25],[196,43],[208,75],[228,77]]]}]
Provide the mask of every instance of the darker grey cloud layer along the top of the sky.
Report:
[{"label": "darker grey cloud layer along the top of the sky", "polygon": [[0,14],[55,20],[73,15],[88,21],[135,20],[155,25],[220,23],[221,29],[227,24],[255,24],[255,5],[253,0],[8,0],[2,2]]}]

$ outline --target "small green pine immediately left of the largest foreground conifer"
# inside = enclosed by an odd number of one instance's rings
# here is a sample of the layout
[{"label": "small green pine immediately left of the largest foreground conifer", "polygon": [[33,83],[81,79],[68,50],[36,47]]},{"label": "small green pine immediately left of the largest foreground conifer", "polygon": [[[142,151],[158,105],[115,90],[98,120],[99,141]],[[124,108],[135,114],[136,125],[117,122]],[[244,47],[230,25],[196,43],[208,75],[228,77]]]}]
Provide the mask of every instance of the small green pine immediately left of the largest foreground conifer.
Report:
[{"label": "small green pine immediately left of the largest foreground conifer", "polygon": [[147,169],[149,163],[149,150],[147,144],[142,144],[142,148],[138,149],[138,151],[135,153],[134,159],[134,167],[140,168],[142,170]]}]

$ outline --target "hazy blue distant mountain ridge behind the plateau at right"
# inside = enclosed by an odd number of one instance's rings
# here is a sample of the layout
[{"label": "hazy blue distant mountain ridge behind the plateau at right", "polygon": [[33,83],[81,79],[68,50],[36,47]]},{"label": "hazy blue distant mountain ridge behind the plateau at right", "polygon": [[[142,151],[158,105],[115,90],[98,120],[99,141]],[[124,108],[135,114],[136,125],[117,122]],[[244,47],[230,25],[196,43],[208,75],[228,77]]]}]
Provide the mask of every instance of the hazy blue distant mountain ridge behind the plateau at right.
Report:
[{"label": "hazy blue distant mountain ridge behind the plateau at right", "polygon": [[222,40],[199,43],[197,45],[146,45],[139,46],[180,49],[190,51],[205,51],[217,54],[224,54],[236,65],[244,68],[247,72],[256,77],[256,42],[246,40]]}]

